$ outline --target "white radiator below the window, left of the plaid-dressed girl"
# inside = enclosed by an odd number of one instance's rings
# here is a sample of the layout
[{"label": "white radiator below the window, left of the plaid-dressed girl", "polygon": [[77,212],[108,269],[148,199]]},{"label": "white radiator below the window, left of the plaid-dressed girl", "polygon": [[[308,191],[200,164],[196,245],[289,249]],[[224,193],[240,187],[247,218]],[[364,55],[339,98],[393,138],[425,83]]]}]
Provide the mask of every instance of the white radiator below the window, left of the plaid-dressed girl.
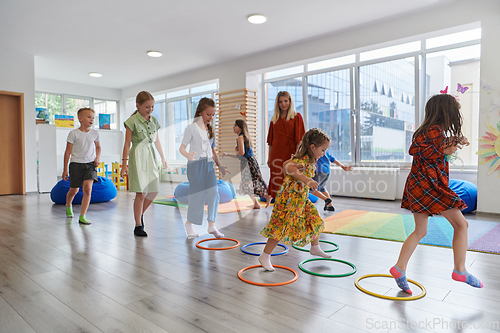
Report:
[{"label": "white radiator below the window, left of the plaid-dressed girl", "polygon": [[332,168],[326,190],[331,195],[396,200],[398,168]]}]

